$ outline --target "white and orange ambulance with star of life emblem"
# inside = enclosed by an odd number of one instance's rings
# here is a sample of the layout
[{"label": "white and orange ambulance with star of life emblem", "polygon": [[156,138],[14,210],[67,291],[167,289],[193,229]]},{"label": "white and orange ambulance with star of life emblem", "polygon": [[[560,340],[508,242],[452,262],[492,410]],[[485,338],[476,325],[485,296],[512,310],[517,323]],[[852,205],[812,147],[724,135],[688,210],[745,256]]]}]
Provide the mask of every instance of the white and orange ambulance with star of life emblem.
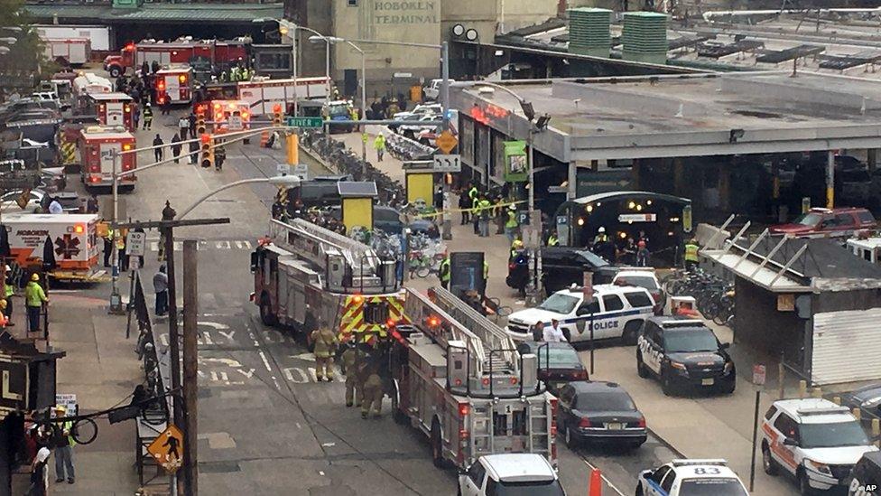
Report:
[{"label": "white and orange ambulance with star of life emblem", "polygon": [[[12,258],[25,270],[43,271],[64,281],[96,281],[104,275],[98,264],[98,216],[72,213],[4,214]],[[8,263],[8,261],[7,261]]]}]

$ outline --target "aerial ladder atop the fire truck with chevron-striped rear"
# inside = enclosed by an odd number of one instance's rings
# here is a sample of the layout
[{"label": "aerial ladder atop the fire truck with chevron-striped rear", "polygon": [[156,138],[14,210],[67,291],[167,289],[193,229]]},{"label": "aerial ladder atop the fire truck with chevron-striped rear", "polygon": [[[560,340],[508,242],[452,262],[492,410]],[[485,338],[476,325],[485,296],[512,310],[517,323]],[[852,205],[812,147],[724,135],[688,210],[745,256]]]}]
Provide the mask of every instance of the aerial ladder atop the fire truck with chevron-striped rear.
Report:
[{"label": "aerial ladder atop the fire truck with chevron-striped rear", "polygon": [[400,289],[394,260],[355,239],[302,219],[270,220],[269,234],[277,247],[319,267],[321,285],[329,291],[369,295]]}]

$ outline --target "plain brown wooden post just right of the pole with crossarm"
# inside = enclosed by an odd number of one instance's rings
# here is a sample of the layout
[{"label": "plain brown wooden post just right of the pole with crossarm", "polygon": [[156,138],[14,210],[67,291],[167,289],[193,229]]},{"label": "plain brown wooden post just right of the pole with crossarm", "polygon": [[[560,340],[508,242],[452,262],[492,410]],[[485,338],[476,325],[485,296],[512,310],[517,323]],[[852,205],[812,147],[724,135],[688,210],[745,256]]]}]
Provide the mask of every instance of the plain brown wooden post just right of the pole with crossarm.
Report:
[{"label": "plain brown wooden post just right of the pole with crossarm", "polygon": [[183,493],[196,496],[199,493],[199,457],[196,448],[198,411],[196,398],[199,386],[196,378],[198,353],[196,342],[197,315],[199,314],[199,291],[197,285],[196,240],[183,242],[183,401],[186,404],[186,433],[183,437]]}]

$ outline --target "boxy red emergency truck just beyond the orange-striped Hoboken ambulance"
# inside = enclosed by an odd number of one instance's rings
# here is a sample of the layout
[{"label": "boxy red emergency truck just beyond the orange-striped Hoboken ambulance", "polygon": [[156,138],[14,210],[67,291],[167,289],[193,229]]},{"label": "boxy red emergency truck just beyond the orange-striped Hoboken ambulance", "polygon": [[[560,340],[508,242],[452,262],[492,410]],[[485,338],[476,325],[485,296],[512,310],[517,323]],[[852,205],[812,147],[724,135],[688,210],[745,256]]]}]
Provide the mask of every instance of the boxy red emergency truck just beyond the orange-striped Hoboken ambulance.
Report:
[{"label": "boxy red emergency truck just beyond the orange-striped Hoboken ambulance", "polygon": [[[109,186],[113,183],[113,161],[116,170],[134,169],[135,154],[120,154],[135,148],[134,135],[122,126],[88,126],[79,135],[80,175],[87,187]],[[120,191],[134,190],[134,174],[119,180]]]}]

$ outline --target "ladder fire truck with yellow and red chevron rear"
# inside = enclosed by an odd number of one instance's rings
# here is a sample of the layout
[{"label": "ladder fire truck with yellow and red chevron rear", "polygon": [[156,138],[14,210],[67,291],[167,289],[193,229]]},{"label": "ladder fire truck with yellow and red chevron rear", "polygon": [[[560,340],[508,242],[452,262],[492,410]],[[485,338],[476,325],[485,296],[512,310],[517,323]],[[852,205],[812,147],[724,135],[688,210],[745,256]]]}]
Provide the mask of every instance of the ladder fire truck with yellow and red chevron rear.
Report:
[{"label": "ladder fire truck with yellow and red chevron rear", "polygon": [[311,332],[325,323],[358,342],[408,323],[396,260],[307,220],[270,221],[251,254],[254,293],[266,325]]}]

